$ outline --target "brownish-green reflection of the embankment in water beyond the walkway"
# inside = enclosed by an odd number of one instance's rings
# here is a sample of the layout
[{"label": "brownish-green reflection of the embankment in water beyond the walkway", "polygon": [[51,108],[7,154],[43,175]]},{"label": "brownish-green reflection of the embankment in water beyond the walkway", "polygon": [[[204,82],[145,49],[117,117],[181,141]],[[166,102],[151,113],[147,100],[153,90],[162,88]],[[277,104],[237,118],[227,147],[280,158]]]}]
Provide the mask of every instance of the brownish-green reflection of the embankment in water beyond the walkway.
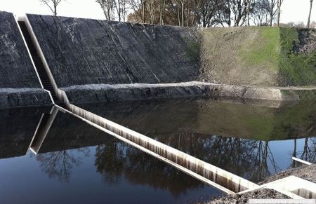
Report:
[{"label": "brownish-green reflection of the embankment in water beyond the walkway", "polygon": [[272,141],[316,135],[313,102],[275,108],[216,100],[159,100],[79,107],[152,138],[195,133]]}]

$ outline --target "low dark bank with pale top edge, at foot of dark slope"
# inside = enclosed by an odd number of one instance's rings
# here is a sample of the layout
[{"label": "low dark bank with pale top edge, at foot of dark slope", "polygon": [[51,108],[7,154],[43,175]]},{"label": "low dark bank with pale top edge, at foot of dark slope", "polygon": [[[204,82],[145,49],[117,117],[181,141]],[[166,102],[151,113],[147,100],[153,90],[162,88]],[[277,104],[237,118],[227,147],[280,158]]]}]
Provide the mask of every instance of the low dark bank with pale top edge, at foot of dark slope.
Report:
[{"label": "low dark bank with pale top edge, at foot of dark slope", "polygon": [[209,84],[168,83],[168,84],[105,84],[72,86],[62,88],[73,103],[111,102],[124,100],[167,99],[174,97],[218,96],[217,86]]}]

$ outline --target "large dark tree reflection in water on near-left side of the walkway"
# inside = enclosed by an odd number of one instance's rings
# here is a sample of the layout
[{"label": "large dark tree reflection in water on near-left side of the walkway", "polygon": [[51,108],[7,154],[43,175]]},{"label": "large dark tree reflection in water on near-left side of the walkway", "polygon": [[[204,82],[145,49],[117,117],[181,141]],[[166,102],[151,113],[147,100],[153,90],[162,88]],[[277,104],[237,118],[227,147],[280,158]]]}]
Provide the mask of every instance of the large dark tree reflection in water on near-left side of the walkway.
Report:
[{"label": "large dark tree reflection in water on near-left side of the walkway", "polygon": [[131,184],[168,190],[175,197],[188,189],[204,186],[171,165],[115,139],[96,148],[95,165],[108,184],[119,184],[121,177],[124,177]]}]

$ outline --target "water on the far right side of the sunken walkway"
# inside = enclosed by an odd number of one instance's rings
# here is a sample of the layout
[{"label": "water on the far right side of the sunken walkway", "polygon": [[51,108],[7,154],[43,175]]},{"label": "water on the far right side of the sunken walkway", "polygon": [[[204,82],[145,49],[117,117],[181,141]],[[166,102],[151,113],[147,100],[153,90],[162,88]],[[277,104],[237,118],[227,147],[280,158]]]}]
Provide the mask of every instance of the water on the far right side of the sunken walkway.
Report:
[{"label": "water on the far right side of the sunken walkway", "polygon": [[79,105],[236,175],[261,182],[316,161],[315,102],[160,100]]}]

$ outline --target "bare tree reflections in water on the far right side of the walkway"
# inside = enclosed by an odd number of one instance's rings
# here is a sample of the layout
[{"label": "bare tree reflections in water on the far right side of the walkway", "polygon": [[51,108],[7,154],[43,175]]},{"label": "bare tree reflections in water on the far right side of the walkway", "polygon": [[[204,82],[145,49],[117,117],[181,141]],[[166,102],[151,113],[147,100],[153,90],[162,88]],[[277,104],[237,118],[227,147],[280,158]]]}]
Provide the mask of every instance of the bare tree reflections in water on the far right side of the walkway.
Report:
[{"label": "bare tree reflections in water on the far right side of the walkway", "polygon": [[253,182],[279,170],[269,142],[265,141],[192,133],[158,140]]}]

